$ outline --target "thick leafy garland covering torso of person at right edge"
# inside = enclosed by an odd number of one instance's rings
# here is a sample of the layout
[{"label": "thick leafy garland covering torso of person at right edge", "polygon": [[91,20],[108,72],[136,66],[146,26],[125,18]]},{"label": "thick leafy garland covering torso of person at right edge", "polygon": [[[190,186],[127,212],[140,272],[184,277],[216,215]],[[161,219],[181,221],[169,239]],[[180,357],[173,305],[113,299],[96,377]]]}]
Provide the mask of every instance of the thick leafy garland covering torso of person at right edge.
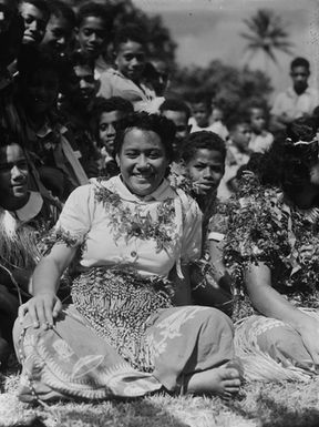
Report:
[{"label": "thick leafy garland covering torso of person at right edge", "polygon": [[243,177],[227,215],[224,257],[234,293],[244,294],[244,271],[263,262],[280,293],[312,306],[319,283],[319,217],[297,210],[278,189],[263,187],[253,176]]}]

